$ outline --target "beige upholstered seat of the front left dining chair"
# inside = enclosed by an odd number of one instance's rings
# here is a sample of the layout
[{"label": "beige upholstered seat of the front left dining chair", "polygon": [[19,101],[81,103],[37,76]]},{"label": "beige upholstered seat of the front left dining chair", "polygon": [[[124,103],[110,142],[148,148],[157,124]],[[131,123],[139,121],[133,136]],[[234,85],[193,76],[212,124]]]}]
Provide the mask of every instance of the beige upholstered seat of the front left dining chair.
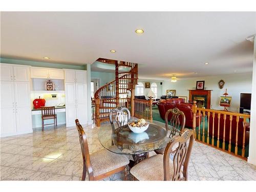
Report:
[{"label": "beige upholstered seat of the front left dining chair", "polygon": [[106,149],[91,154],[90,159],[94,177],[129,164],[129,159],[125,155],[115,154]]}]

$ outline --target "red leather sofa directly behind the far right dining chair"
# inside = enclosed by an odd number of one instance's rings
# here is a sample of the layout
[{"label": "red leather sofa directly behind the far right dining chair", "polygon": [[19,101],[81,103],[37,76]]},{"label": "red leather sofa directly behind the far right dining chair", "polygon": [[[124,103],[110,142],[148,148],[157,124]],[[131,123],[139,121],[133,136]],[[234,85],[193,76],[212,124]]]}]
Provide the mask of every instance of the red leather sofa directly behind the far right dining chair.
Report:
[{"label": "red leather sofa directly behind the far right dining chair", "polygon": [[[174,109],[178,108],[180,111],[182,111],[186,117],[185,127],[193,127],[193,113],[192,113],[192,104],[190,103],[184,103],[184,99],[182,98],[175,98],[175,99],[166,99],[166,100],[160,100],[157,102],[159,114],[162,119],[165,117],[165,113],[168,109]],[[201,115],[202,116],[202,115]],[[168,116],[168,120],[172,117],[172,114],[170,113]],[[197,118],[197,126],[199,126],[199,114],[196,115]]]}]

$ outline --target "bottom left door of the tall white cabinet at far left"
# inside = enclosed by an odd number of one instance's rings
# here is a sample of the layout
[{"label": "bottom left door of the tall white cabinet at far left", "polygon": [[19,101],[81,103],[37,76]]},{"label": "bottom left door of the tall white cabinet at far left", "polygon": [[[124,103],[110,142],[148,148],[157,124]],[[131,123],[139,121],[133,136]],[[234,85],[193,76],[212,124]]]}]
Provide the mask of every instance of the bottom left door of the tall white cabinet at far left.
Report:
[{"label": "bottom left door of the tall white cabinet at far left", "polygon": [[1,108],[1,137],[16,135],[14,108]]}]

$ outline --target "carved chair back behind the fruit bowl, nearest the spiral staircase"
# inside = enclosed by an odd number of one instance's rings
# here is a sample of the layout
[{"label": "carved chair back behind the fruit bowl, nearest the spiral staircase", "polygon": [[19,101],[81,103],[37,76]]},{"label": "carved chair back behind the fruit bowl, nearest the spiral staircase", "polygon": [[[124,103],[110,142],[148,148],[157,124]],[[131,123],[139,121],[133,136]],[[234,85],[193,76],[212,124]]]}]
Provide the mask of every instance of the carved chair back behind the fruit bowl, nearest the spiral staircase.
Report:
[{"label": "carved chair back behind the fruit bowl, nearest the spiral staircase", "polygon": [[130,119],[131,113],[129,109],[122,106],[118,106],[118,108],[113,109],[110,112],[110,123],[112,126],[112,130],[115,130],[114,120],[116,121],[118,127],[120,127],[127,124]]}]

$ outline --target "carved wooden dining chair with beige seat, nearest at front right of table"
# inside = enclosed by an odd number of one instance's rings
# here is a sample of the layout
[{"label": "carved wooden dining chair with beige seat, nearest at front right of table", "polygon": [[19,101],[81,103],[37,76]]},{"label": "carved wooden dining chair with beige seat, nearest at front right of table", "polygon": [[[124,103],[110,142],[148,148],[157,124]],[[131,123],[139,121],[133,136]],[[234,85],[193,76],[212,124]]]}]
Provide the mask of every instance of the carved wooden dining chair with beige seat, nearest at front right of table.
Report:
[{"label": "carved wooden dining chair with beige seat, nearest at front right of table", "polygon": [[[194,142],[193,130],[185,129],[167,144],[164,155],[147,158],[131,168],[130,173],[140,181],[187,181],[188,163]],[[173,160],[170,155],[173,154]]]}]

